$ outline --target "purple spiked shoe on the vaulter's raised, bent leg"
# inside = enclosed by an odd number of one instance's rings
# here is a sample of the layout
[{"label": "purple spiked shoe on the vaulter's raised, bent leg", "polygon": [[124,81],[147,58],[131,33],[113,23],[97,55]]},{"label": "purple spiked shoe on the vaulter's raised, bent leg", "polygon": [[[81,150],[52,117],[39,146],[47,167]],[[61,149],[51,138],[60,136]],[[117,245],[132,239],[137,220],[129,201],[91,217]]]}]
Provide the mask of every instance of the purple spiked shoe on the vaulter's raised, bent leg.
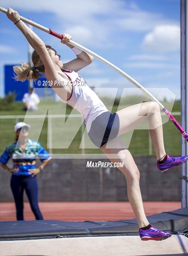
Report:
[{"label": "purple spiked shoe on the vaulter's raised, bent leg", "polygon": [[188,160],[188,156],[184,157],[171,157],[167,155],[167,160],[164,163],[157,163],[157,167],[161,172],[168,171],[168,169],[179,166]]}]

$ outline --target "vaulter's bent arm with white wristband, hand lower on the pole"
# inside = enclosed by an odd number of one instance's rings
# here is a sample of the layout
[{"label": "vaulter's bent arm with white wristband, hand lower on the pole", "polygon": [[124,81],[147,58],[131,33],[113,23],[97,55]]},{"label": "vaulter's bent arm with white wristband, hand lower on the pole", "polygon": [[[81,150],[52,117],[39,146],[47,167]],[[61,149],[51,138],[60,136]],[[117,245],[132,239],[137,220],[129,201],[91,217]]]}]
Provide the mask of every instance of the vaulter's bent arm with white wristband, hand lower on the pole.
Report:
[{"label": "vaulter's bent arm with white wristband, hand lower on the pole", "polygon": [[[68,44],[68,41],[71,40],[71,36],[68,34],[62,34],[62,36],[63,38],[61,40],[61,43],[67,45],[70,48],[73,48],[73,45]],[[68,68],[70,70],[77,72],[81,70],[83,67],[86,67],[90,63],[92,63],[93,59],[93,56],[82,51],[81,54],[77,55],[77,58],[67,63],[64,63],[64,68]]]}]

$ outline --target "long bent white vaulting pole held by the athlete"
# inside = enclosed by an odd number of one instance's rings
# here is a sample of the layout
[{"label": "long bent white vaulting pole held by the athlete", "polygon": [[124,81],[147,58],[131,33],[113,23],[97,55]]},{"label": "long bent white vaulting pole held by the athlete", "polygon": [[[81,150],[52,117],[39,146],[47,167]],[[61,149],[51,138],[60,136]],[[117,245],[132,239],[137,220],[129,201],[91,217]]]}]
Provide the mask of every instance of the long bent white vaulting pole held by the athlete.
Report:
[{"label": "long bent white vaulting pole held by the athlete", "polygon": [[[7,13],[7,9],[4,9],[2,7],[0,7],[0,11],[3,13]],[[36,22],[31,21],[30,19],[24,18],[22,16],[20,16],[21,20],[23,22],[26,22],[30,25],[32,25],[33,27],[37,27],[38,29],[41,29],[45,32],[47,32],[48,34],[52,35],[52,36],[56,36],[59,39],[62,39],[62,35],[56,33],[55,31],[52,31],[50,28],[47,27],[43,27],[41,25],[39,25]],[[186,141],[188,142],[188,134],[184,131],[184,129],[180,126],[179,122],[171,115],[171,113],[167,110],[167,108],[165,108],[162,103],[160,103],[158,101],[158,99],[156,99],[152,94],[150,94],[150,92],[148,90],[146,90],[141,84],[139,84],[136,80],[134,80],[131,76],[129,76],[127,73],[125,73],[124,71],[122,71],[119,67],[116,67],[114,64],[112,64],[111,62],[107,61],[105,58],[99,56],[98,54],[90,51],[89,49],[85,48],[82,45],[77,44],[76,42],[74,42],[73,40],[70,40],[68,42],[70,45],[73,45],[75,47],[77,47],[78,49],[92,55],[95,58],[98,58],[100,61],[102,61],[103,63],[105,63],[107,66],[113,68],[116,72],[118,72],[120,75],[124,76],[126,79],[128,79],[128,81],[130,81],[133,85],[137,86],[137,88],[139,88],[144,94],[147,94],[150,99],[152,99],[153,101],[157,102],[160,106],[160,108],[162,109],[162,111],[168,116],[170,117],[170,120],[173,122],[173,124],[176,126],[176,128],[179,130],[179,132],[181,133],[182,136],[184,136],[184,138],[186,139]]]}]

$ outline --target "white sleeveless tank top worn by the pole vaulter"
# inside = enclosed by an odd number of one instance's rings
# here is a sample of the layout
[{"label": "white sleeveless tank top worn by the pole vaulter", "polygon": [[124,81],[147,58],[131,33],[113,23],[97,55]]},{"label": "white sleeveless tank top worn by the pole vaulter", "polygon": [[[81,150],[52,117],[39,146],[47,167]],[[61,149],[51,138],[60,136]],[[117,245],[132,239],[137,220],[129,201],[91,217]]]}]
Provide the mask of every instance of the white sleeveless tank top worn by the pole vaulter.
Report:
[{"label": "white sleeveless tank top worn by the pole vaulter", "polygon": [[72,94],[67,101],[63,101],[81,113],[88,133],[92,121],[109,110],[77,72],[68,69],[62,69],[62,71],[72,83]]}]

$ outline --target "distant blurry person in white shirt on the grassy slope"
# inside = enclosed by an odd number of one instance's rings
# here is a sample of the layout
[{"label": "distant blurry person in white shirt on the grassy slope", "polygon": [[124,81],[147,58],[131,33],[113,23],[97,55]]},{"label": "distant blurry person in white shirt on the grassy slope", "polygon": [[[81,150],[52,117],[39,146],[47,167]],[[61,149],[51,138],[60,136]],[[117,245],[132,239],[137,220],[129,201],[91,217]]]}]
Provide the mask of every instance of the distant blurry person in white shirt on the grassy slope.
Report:
[{"label": "distant blurry person in white shirt on the grassy slope", "polygon": [[34,92],[34,88],[30,88],[29,93],[25,93],[22,99],[25,110],[38,110],[38,104],[40,103],[40,99],[38,94]]}]

